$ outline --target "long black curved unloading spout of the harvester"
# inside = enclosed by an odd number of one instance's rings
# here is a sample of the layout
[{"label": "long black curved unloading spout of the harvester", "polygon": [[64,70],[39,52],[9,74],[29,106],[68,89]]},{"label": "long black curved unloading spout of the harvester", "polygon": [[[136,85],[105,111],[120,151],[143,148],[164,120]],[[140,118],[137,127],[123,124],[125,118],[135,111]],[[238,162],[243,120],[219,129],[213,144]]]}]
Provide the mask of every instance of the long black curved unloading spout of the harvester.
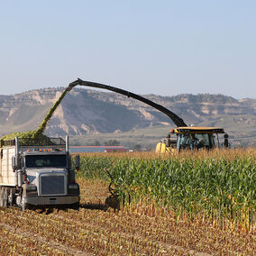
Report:
[{"label": "long black curved unloading spout of the harvester", "polygon": [[123,89],[106,86],[104,84],[99,84],[99,83],[94,83],[94,82],[89,82],[89,81],[83,81],[82,79],[78,78],[78,80],[69,84],[69,87],[67,87],[67,90],[69,91],[73,87],[76,87],[76,86],[96,87],[96,88],[101,88],[101,89],[106,89],[106,90],[109,90],[109,91],[113,91],[113,92],[121,94],[123,96],[133,97],[133,98],[135,98],[139,101],[142,101],[143,103],[145,103],[147,105],[151,105],[152,107],[158,109],[161,113],[168,115],[169,118],[171,119],[171,121],[173,123],[175,123],[178,127],[187,126],[187,124],[183,121],[182,118],[178,117],[177,114],[174,114],[173,112],[169,111],[169,109],[165,108],[164,106],[156,104],[156,103],[152,102],[151,100],[149,100],[147,98],[144,98],[142,96],[139,96],[139,95],[133,94],[131,92],[125,91]]}]

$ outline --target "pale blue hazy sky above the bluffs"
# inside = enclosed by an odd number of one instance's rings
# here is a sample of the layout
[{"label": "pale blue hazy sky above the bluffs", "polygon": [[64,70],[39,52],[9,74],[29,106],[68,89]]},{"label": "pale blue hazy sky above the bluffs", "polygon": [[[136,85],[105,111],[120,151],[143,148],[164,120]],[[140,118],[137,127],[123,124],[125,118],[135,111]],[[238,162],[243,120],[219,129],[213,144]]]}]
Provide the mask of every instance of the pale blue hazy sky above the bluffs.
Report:
[{"label": "pale blue hazy sky above the bluffs", "polygon": [[0,0],[0,95],[85,80],[256,98],[256,1]]}]

